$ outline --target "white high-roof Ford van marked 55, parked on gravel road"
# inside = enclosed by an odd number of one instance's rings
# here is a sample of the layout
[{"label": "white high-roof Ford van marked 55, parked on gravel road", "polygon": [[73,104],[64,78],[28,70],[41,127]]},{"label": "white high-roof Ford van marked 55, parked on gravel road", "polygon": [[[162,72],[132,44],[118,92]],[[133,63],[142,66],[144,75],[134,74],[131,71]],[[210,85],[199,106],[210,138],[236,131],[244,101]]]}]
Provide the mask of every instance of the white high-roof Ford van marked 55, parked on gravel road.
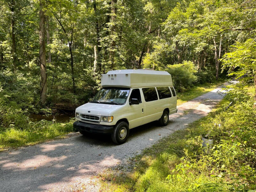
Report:
[{"label": "white high-roof Ford van marked 55, parked on gravel road", "polygon": [[111,133],[112,140],[122,144],[129,129],[156,120],[165,126],[177,112],[172,76],[166,71],[109,71],[101,75],[101,86],[93,100],[76,108],[73,126],[81,134]]}]

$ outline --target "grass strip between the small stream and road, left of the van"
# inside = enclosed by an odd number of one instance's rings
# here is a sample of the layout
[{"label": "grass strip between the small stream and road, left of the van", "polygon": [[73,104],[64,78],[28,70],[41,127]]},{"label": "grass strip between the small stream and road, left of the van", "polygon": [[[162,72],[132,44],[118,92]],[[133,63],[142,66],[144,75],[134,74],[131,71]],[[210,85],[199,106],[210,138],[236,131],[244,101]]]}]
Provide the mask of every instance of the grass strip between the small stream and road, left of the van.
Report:
[{"label": "grass strip between the small stream and road, left of the van", "polygon": [[0,132],[0,151],[17,148],[21,146],[35,145],[47,140],[63,136],[73,129],[74,120],[67,123],[52,123],[51,121],[41,120],[38,122],[28,122],[29,126],[25,129],[9,128]]}]

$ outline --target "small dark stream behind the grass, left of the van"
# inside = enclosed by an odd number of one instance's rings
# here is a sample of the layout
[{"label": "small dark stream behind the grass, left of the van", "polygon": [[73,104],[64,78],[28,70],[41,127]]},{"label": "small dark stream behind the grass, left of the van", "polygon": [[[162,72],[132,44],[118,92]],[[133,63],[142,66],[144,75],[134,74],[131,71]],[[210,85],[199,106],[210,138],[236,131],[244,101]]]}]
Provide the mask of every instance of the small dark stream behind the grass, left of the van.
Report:
[{"label": "small dark stream behind the grass, left of the van", "polygon": [[47,121],[52,121],[55,119],[56,123],[66,123],[70,120],[70,118],[75,117],[75,112],[74,113],[68,113],[68,114],[57,114],[55,116],[49,115],[49,116],[44,116],[44,115],[38,115],[38,114],[31,114],[30,119],[33,122],[36,121],[41,121],[41,120],[47,120]]}]

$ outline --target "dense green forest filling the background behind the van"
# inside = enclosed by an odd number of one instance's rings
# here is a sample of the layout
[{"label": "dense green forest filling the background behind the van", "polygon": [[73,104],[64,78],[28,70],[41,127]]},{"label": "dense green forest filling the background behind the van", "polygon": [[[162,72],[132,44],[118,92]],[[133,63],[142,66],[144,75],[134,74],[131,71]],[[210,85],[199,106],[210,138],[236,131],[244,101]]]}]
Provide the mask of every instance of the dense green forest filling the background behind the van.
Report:
[{"label": "dense green forest filling the background behind the van", "polygon": [[[241,46],[255,52],[255,4],[0,0],[2,106],[13,102],[28,113],[75,109],[99,89],[100,74],[116,69],[167,70],[179,92],[213,82],[236,70],[226,53]],[[228,63],[222,74],[221,58]],[[254,69],[248,71],[256,82]]]}]

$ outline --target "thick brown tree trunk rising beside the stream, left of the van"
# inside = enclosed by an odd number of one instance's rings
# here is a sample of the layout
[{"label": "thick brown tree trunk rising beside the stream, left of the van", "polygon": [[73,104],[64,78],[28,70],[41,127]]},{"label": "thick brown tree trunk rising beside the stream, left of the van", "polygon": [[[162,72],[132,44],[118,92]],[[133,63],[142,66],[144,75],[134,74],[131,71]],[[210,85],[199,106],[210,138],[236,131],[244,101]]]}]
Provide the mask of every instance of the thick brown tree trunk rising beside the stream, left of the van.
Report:
[{"label": "thick brown tree trunk rising beside the stream, left of the van", "polygon": [[47,74],[46,74],[46,54],[45,54],[45,15],[43,12],[43,4],[40,0],[40,10],[39,10],[39,62],[40,62],[40,72],[41,72],[41,103],[45,103],[46,92],[47,92]]}]

